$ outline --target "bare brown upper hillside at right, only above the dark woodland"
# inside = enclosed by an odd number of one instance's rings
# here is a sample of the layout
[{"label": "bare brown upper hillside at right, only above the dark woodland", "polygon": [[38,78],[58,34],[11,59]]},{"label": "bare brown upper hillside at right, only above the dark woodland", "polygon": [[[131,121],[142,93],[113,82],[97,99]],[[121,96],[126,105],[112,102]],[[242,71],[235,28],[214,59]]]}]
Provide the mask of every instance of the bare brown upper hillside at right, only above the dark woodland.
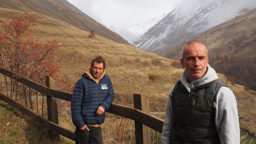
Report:
[{"label": "bare brown upper hillside at right, only above the dark woodland", "polygon": [[[233,55],[236,58],[252,59],[256,57],[256,9],[247,14],[198,34],[197,39],[206,44],[209,56]],[[156,53],[170,59],[180,59],[183,44],[158,50]]]}]

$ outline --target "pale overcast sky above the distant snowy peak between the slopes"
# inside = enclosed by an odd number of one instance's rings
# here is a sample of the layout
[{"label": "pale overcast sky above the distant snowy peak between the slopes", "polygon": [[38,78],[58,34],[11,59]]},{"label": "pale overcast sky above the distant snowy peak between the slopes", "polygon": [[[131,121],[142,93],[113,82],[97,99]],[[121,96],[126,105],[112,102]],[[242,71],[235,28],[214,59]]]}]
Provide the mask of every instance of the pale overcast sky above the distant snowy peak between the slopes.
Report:
[{"label": "pale overcast sky above the distant snowy peak between the slopes", "polygon": [[168,14],[181,0],[68,0],[106,27],[124,27]]}]

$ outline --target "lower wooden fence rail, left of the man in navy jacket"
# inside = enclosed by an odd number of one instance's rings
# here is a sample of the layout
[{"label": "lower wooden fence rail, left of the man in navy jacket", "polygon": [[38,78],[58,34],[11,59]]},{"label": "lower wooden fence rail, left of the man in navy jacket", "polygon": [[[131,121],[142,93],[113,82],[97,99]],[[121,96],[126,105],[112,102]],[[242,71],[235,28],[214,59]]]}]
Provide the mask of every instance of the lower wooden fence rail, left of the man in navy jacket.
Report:
[{"label": "lower wooden fence rail, left of the man in navy jacket", "polygon": [[38,123],[42,124],[43,127],[53,130],[54,132],[58,132],[61,135],[63,135],[64,137],[75,141],[75,134],[71,130],[66,129],[64,127],[59,126],[58,124],[48,121],[44,117],[39,116],[37,113],[31,111],[29,108],[27,108],[25,106],[22,106],[20,103],[12,100],[11,98],[7,97],[4,94],[0,93],[0,99],[2,101],[5,101],[12,107],[15,107],[17,110],[21,111],[22,113],[26,114],[28,117],[30,117],[34,121],[37,121]]}]

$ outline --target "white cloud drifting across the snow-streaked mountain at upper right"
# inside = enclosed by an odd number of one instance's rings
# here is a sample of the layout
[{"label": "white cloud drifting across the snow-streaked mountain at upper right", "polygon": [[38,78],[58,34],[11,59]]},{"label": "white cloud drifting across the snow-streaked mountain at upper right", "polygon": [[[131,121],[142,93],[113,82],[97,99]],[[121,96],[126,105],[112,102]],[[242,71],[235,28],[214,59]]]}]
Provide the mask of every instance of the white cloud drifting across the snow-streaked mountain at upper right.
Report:
[{"label": "white cloud drifting across the snow-streaked mountain at upper right", "polygon": [[[222,4],[218,9],[214,9],[214,3]],[[197,23],[196,27],[183,27],[183,31],[190,33],[200,33],[207,29],[219,25],[230,18],[236,16],[244,8],[255,9],[255,0],[183,0],[175,5],[176,18],[191,18],[194,14],[203,10],[206,7],[213,6],[209,16],[202,17],[203,20]],[[169,33],[173,32],[175,23],[170,23],[166,26],[162,33],[162,38],[166,37]],[[184,24],[184,23],[183,23]]]}]

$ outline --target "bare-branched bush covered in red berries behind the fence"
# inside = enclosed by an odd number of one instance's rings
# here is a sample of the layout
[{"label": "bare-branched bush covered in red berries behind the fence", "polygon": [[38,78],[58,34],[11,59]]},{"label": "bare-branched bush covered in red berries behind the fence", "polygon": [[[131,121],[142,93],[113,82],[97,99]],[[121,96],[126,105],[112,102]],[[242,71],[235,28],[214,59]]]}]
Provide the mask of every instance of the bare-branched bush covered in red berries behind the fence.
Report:
[{"label": "bare-branched bush covered in red berries behind the fence", "polygon": [[[0,68],[5,68],[27,79],[45,84],[45,77],[57,78],[60,64],[55,62],[56,40],[42,42],[32,37],[32,27],[41,17],[25,13],[12,20],[0,21]],[[33,110],[32,96],[37,92],[5,77],[6,93],[15,100],[24,99]]]}]

